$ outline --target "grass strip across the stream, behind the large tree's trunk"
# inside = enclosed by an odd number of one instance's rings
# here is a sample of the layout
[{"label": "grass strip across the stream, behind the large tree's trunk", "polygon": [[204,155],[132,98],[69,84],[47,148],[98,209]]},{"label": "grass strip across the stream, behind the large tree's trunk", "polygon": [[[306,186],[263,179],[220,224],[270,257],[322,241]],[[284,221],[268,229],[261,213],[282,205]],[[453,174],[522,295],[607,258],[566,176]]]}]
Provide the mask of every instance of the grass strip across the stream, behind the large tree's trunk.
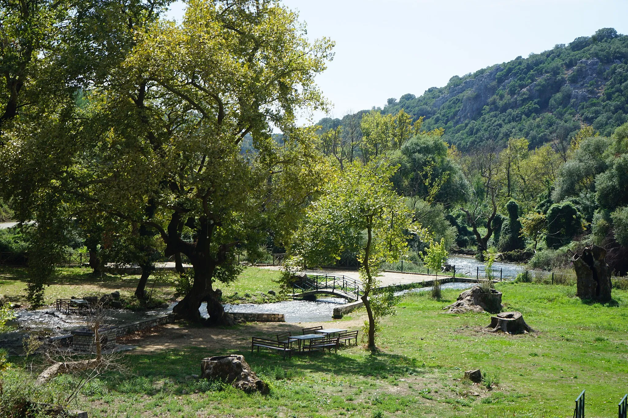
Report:
[{"label": "grass strip across the stream, behind the large tree's trunk", "polygon": [[[278,278],[279,271],[249,267],[233,283],[218,282],[214,287],[221,288],[227,299],[236,292],[242,296],[257,291],[266,293],[269,290],[275,290],[278,292],[279,285],[273,281]],[[0,295],[9,296],[13,301],[24,303],[27,279],[28,271],[24,268],[0,268]],[[175,280],[175,273],[153,274],[148,279],[146,290],[151,291],[154,286],[153,295],[168,300],[175,294]],[[94,276],[90,268],[58,268],[56,276],[50,281],[50,286],[45,288],[45,303],[52,305],[57,298],[102,295],[115,290],[120,291],[122,298],[130,298],[135,292],[138,281],[137,274]]]}]

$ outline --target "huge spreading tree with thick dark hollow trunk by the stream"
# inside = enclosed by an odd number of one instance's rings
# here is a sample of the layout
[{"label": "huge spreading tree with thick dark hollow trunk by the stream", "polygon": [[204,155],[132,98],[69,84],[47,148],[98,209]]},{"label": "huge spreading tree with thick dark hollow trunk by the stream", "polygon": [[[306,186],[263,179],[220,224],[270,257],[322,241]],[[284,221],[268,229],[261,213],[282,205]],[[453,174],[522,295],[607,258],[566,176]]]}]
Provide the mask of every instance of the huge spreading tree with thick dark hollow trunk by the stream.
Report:
[{"label": "huge spreading tree with thick dark hollow trunk by the stream", "polygon": [[205,301],[208,324],[228,323],[214,281],[233,280],[237,251],[254,253],[268,231],[280,241],[317,189],[313,131],[295,128],[295,112],[323,104],[313,78],[331,46],[308,43],[297,16],[269,1],[192,1],[181,26],[141,34],[117,83],[90,95],[106,160],[89,173],[90,194],[158,231],[166,256],[190,260],[181,317],[203,321]]}]

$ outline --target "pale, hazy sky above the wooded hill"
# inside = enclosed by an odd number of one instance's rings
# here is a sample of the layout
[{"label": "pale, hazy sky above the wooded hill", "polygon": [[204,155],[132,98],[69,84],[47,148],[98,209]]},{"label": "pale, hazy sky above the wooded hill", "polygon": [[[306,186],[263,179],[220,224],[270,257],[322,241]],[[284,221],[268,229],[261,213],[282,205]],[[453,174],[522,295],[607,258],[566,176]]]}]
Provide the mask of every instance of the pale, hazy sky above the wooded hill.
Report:
[{"label": "pale, hazy sky above the wooded hill", "polygon": [[[628,0],[284,0],[305,21],[308,38],[335,41],[317,83],[332,102],[329,117],[420,96],[454,75],[590,36],[600,28],[628,34]],[[180,21],[181,1],[168,17]],[[310,115],[317,121],[323,113]],[[301,117],[305,123],[306,115]]]}]

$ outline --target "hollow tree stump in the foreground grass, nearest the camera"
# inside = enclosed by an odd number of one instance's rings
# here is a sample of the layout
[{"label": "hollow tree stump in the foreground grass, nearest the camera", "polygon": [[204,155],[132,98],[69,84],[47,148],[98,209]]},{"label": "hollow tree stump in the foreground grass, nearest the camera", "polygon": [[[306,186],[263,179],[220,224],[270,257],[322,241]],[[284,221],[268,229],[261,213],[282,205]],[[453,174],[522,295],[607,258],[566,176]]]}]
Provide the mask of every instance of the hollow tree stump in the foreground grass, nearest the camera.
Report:
[{"label": "hollow tree stump in the foreground grass, nearest the camera", "polygon": [[203,358],[200,371],[203,379],[223,380],[247,394],[252,392],[268,394],[268,384],[257,378],[243,355],[231,354]]}]

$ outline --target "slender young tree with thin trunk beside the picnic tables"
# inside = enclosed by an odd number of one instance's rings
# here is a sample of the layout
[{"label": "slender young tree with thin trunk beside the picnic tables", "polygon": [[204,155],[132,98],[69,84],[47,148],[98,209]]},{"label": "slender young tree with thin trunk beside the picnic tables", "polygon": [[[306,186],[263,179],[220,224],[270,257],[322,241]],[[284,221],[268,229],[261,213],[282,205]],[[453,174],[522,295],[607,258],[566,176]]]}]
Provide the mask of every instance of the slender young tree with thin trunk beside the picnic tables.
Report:
[{"label": "slender young tree with thin trunk beside the picnic tables", "polygon": [[395,170],[387,162],[354,162],[337,172],[308,208],[291,248],[292,256],[308,266],[333,263],[345,251],[357,252],[370,348],[375,348],[378,315],[369,298],[377,288],[379,268],[406,251],[411,231],[422,233],[404,198],[393,190],[390,177]]}]

